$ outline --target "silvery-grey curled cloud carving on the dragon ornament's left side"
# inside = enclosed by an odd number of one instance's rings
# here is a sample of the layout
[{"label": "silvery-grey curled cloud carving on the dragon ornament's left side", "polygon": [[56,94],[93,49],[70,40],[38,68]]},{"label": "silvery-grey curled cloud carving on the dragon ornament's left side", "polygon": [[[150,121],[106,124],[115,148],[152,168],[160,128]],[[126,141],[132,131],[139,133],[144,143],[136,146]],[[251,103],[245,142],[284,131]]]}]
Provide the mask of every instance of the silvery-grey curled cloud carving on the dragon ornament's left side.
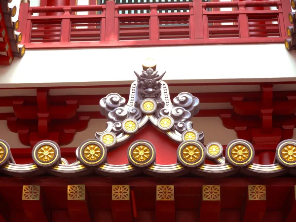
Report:
[{"label": "silvery-grey curled cloud carving on the dragon ornament's left side", "polygon": [[123,106],[125,99],[118,93],[110,93],[106,97],[100,100],[100,112],[102,115],[108,116],[108,113],[113,111],[115,108]]}]

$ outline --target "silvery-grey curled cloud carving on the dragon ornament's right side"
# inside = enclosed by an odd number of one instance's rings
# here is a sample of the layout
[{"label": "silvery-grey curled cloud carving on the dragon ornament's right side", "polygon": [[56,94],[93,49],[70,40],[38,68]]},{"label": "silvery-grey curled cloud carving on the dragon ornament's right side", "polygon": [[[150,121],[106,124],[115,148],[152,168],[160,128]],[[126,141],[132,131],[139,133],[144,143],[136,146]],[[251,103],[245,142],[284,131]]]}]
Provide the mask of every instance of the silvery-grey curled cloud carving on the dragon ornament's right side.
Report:
[{"label": "silvery-grey curled cloud carving on the dragon ornament's right side", "polygon": [[177,107],[183,107],[186,111],[191,112],[191,116],[198,113],[199,99],[191,93],[182,92],[173,99],[173,103]]}]

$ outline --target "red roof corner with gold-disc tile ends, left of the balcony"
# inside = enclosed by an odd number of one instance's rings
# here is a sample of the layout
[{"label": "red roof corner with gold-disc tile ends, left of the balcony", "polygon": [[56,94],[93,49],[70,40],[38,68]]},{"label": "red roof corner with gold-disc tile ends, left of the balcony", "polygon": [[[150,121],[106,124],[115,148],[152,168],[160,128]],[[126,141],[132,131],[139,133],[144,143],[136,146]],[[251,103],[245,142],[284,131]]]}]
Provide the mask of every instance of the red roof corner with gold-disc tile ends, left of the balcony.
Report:
[{"label": "red roof corner with gold-disc tile ends, left of the balcony", "polygon": [[0,65],[10,65],[14,57],[25,54],[25,46],[19,45],[22,33],[17,32],[19,20],[14,20],[17,8],[12,0],[0,0]]}]

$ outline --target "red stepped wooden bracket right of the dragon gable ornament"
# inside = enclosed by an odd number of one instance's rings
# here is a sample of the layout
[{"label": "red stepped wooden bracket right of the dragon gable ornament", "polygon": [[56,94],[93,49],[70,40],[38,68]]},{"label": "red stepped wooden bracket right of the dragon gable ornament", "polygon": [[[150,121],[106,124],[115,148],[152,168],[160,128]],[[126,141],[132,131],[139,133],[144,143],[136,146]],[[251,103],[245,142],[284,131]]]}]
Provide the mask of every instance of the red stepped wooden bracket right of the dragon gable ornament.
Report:
[{"label": "red stepped wooden bracket right of the dragon gable ornament", "polygon": [[296,100],[274,96],[273,86],[261,86],[261,97],[232,97],[232,113],[221,114],[223,126],[253,144],[278,144],[291,139],[296,126]]}]

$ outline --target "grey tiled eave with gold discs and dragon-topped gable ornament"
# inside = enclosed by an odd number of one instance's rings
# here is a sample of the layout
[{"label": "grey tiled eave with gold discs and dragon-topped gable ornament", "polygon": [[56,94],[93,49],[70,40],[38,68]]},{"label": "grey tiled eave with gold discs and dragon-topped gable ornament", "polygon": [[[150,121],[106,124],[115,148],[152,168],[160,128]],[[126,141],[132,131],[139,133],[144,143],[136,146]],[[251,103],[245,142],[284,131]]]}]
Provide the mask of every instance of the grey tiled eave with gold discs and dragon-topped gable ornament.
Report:
[{"label": "grey tiled eave with gold discs and dragon-topped gable ornament", "polygon": [[44,140],[32,150],[33,163],[16,164],[9,145],[1,140],[0,171],[17,177],[296,175],[295,140],[279,143],[269,165],[253,163],[255,149],[246,140],[231,141],[225,154],[219,142],[204,145],[204,133],[195,131],[190,121],[199,111],[198,98],[182,92],[171,100],[169,87],[161,79],[164,73],[155,69],[144,66],[142,74],[135,72],[137,80],[131,84],[127,102],[117,93],[100,100],[107,128],[80,144],[74,163],[62,158],[57,143]]}]

